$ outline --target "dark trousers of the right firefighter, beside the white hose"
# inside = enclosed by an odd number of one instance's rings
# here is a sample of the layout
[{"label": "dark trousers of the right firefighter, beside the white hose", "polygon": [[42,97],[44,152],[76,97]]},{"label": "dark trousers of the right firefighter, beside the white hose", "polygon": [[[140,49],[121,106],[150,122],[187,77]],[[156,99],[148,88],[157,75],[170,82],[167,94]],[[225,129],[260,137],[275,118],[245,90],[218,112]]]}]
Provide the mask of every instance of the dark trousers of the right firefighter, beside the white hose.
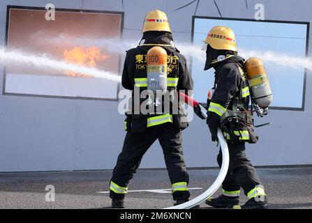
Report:
[{"label": "dark trousers of the right firefighter, beside the white hose", "polygon": [[[246,156],[244,142],[237,144],[228,143],[228,149],[230,153],[230,164],[228,174],[222,183],[223,194],[224,192],[225,195],[226,192],[230,194],[238,192],[237,196],[239,196],[239,190],[242,187],[247,196],[248,192],[251,192],[256,185],[261,185],[258,174]],[[219,167],[221,167],[221,150],[218,153],[217,161]]]}]

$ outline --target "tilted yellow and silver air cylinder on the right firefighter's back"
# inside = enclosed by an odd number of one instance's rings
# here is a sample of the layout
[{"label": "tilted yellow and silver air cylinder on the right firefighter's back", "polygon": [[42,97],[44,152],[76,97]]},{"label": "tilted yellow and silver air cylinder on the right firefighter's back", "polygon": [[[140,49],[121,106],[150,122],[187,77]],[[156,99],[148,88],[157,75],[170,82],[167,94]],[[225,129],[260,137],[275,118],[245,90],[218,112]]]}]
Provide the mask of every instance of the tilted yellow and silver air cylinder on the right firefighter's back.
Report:
[{"label": "tilted yellow and silver air cylinder on the right firefighter's back", "polygon": [[251,57],[245,62],[247,77],[251,85],[253,100],[261,108],[267,108],[273,96],[267,79],[267,72],[261,59]]}]

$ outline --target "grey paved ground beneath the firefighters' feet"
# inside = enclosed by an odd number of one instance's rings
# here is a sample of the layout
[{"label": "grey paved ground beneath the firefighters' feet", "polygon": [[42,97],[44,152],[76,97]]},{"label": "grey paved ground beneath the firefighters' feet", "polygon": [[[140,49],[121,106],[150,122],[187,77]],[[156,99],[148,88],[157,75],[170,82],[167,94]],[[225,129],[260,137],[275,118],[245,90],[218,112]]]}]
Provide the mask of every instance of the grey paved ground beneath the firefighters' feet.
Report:
[{"label": "grey paved ground beneath the firefighters' feet", "polygon": [[[312,208],[312,167],[257,171],[265,185],[269,208]],[[188,173],[189,187],[194,188],[191,197],[195,197],[214,182],[218,169],[190,169]],[[111,176],[111,171],[3,173],[0,208],[109,208],[107,185]],[[50,190],[47,185],[55,189],[54,201],[46,201],[53,199],[45,191]],[[129,185],[129,190],[134,191],[127,195],[126,206],[135,209],[172,206],[170,190],[160,190],[169,188],[167,171],[140,169]],[[242,194],[241,203],[245,201]],[[208,206],[201,203],[200,208]]]}]

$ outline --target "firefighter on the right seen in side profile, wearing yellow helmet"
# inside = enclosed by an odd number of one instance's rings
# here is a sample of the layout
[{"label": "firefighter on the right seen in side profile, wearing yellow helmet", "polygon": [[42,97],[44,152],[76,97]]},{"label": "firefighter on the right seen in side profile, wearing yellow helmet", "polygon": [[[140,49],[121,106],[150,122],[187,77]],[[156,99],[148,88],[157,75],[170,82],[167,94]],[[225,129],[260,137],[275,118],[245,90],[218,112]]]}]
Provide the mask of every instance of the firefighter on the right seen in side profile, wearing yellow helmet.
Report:
[{"label": "firefighter on the right seen in side profile, wearing yellow helmet", "polygon": [[[206,51],[204,70],[216,70],[214,88],[210,90],[207,100],[207,124],[212,141],[217,140],[217,128],[223,130],[230,153],[230,166],[222,185],[223,193],[217,198],[207,199],[206,203],[219,208],[232,208],[239,204],[242,187],[248,197],[242,208],[266,208],[264,187],[245,153],[245,143],[255,143],[258,136],[251,128],[253,116],[248,107],[248,81],[244,59],[237,55],[235,33],[226,26],[214,26],[207,34],[202,49]],[[221,167],[221,150],[217,161]]]}]

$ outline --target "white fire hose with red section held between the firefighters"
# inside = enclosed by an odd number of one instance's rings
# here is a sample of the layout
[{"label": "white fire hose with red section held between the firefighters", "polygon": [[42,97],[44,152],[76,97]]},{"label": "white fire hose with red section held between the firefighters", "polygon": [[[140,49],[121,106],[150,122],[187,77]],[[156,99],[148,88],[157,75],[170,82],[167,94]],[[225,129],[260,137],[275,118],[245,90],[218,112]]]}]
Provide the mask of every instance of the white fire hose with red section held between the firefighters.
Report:
[{"label": "white fire hose with red section held between the firefighters", "polygon": [[[200,105],[200,103],[196,102],[192,98],[190,98],[188,95],[185,95],[184,93],[179,93],[180,98],[184,98],[184,101],[190,105],[191,107],[194,106],[200,106],[200,109],[202,111],[202,115],[207,118],[207,110],[205,107]],[[206,111],[206,112],[205,112]],[[218,190],[218,188],[221,186],[223,183],[223,180],[225,179],[225,176],[228,172],[228,166],[230,162],[229,158],[229,153],[228,153],[228,144],[226,143],[223,133],[221,132],[220,128],[218,128],[218,142],[220,143],[221,146],[221,151],[222,151],[222,166],[221,170],[218,174],[218,177],[214,181],[214,183],[202,194],[200,194],[198,197],[195,197],[191,201],[187,201],[185,203],[181,203],[177,206],[172,206],[170,208],[165,208],[165,209],[188,209],[188,208],[193,208],[194,206],[197,206],[198,204],[202,203],[202,201],[205,201],[208,197],[211,197],[214,192]]]}]

